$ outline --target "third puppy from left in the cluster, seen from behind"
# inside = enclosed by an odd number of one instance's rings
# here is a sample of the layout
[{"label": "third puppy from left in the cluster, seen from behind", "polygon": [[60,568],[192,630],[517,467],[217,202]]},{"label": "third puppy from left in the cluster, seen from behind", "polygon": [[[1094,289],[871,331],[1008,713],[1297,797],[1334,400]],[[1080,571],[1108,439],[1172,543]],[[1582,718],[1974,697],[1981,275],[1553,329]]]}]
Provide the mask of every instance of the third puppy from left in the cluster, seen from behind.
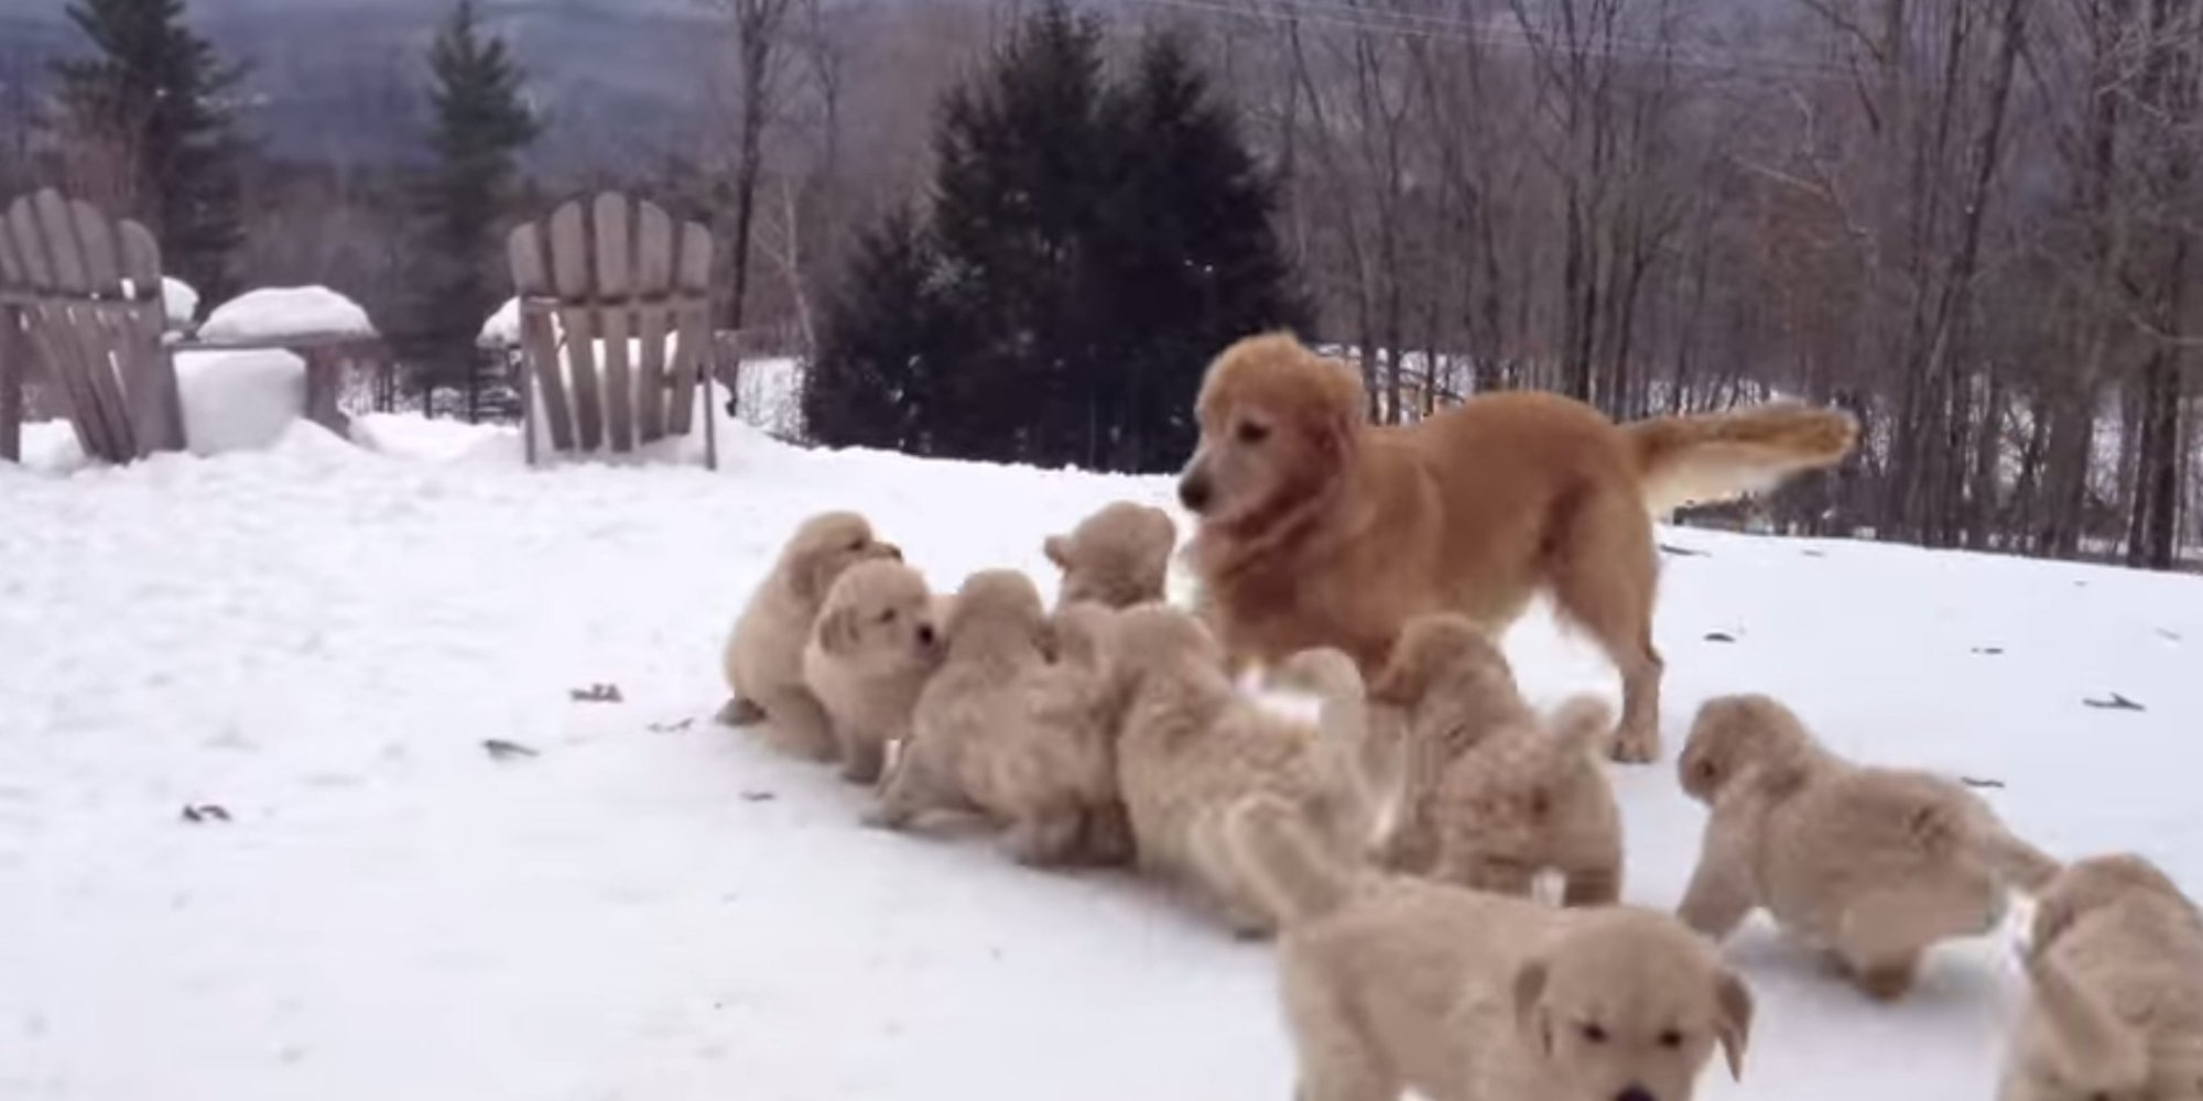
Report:
[{"label": "third puppy from left in the cluster, seen from behind", "polygon": [[[919,694],[910,744],[881,791],[875,826],[903,828],[927,810],[980,813],[1009,826],[1020,863],[1064,863],[1117,802],[1115,753],[1102,707],[1099,619],[1075,606],[1051,623],[1022,573],[965,579],[943,621],[941,669]],[[1049,652],[1064,661],[1051,665]],[[1097,854],[1097,859],[1108,852]]]}]

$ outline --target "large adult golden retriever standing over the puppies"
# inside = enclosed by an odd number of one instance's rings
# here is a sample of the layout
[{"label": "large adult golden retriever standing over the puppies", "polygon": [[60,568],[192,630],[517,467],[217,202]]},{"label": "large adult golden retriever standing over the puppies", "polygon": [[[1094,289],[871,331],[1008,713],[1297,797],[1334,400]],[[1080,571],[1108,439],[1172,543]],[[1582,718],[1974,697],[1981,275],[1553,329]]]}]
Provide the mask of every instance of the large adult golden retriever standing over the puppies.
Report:
[{"label": "large adult golden retriever standing over the puppies", "polygon": [[1485,394],[1408,427],[1364,423],[1361,381],[1289,335],[1227,348],[1201,385],[1179,500],[1234,665],[1313,645],[1375,676],[1401,625],[1500,632],[1540,590],[1621,672],[1613,753],[1659,755],[1652,515],[1842,460],[1857,425],[1765,405],[1615,425],[1558,394]]}]

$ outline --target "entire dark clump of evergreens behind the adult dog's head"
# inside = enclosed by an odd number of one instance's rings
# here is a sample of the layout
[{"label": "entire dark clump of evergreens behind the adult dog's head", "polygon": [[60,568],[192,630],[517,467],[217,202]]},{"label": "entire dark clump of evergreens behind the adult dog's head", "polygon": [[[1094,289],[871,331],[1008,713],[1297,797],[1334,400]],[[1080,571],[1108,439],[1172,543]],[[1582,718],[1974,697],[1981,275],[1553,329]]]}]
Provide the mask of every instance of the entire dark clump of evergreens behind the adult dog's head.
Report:
[{"label": "entire dark clump of evergreens behind the adult dog's head", "polygon": [[[1306,324],[1231,110],[1172,37],[1152,40],[1119,88],[1102,81],[1099,46],[1097,22],[1046,2],[949,95],[934,143],[938,255],[892,269],[868,251],[850,275],[806,396],[820,438],[1170,469],[1192,447],[1207,361],[1242,335]],[[916,229],[875,242],[897,233]],[[883,379],[875,392],[923,401],[890,416],[848,390],[859,341]],[[923,385],[905,377],[921,368]]]}]

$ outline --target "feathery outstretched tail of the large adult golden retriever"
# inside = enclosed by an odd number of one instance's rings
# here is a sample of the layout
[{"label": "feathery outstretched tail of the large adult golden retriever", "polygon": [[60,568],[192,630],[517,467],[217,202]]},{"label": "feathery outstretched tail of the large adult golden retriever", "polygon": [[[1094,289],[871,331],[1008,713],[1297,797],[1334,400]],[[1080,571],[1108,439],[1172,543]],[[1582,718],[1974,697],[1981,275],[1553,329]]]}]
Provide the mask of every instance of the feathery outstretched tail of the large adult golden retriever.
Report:
[{"label": "feathery outstretched tail of the large adult golden retriever", "polygon": [[1637,458],[1646,509],[1668,515],[1773,489],[1784,478],[1833,467],[1851,454],[1859,423],[1840,410],[1778,401],[1696,416],[1621,425]]}]

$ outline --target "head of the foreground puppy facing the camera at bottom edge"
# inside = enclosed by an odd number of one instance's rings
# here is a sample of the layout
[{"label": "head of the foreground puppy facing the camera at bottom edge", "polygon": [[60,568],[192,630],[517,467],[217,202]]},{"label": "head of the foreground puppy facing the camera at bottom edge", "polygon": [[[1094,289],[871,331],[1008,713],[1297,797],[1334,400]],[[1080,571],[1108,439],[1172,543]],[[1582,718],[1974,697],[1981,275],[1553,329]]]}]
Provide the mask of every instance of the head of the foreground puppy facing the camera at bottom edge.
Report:
[{"label": "head of the foreground puppy facing the camera at bottom edge", "polygon": [[1690,1101],[1718,1044],[1743,1077],[1751,991],[1714,949],[1665,914],[1632,907],[1582,918],[1522,964],[1516,1024],[1566,1101]]}]

